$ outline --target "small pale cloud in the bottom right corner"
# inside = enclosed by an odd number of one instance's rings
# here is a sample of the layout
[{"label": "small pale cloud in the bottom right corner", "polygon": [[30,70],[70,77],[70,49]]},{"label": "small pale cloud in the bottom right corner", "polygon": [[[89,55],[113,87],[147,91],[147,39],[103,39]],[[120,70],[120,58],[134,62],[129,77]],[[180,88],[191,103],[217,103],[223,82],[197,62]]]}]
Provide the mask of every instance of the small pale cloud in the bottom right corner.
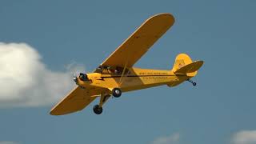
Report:
[{"label": "small pale cloud in the bottom right corner", "polygon": [[256,130],[239,131],[231,141],[234,144],[256,144]]}]

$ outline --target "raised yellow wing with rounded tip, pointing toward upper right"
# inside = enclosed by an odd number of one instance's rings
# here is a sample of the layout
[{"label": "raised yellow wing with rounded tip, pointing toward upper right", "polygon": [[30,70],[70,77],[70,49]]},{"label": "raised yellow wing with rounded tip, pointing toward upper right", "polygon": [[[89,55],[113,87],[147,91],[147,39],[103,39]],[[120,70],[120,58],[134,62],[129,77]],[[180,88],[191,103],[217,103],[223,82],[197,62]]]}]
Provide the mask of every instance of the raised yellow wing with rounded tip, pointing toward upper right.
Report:
[{"label": "raised yellow wing with rounded tip, pointing toward upper right", "polygon": [[147,19],[109,58],[102,62],[101,66],[133,66],[173,24],[174,17],[171,14],[157,14]]}]

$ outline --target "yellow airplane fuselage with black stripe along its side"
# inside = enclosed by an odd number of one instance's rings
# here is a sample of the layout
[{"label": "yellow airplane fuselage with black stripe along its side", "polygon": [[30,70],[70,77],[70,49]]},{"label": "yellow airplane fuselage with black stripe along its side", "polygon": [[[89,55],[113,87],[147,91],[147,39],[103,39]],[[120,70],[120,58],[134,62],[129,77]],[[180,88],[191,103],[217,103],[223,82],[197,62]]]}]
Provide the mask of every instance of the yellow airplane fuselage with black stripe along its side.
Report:
[{"label": "yellow airplane fuselage with black stripe along its side", "polygon": [[[118,74],[107,70],[107,72],[103,72],[102,74],[90,73],[86,75],[88,81],[82,81],[78,78],[79,86],[84,88],[95,86],[106,89],[118,87],[122,92],[161,85],[177,86],[190,78],[186,74],[174,74],[171,70],[150,70],[134,67],[127,69],[126,72]],[[99,91],[99,94],[100,93],[102,92]],[[111,94],[110,91],[109,94]]]}]

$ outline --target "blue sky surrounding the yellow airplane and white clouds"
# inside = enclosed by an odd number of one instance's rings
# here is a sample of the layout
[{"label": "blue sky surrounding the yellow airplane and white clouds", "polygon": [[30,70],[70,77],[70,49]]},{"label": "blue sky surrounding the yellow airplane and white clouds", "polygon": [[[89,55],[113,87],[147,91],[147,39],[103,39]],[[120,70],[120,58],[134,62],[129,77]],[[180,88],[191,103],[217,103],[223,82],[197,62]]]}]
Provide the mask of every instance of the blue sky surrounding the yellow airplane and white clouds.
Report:
[{"label": "blue sky surrounding the yellow airplane and white clouds", "polygon": [[[205,61],[194,78],[198,86],[185,82],[174,88],[160,86],[122,94],[106,103],[102,115],[92,111],[98,101],[79,113],[56,117],[49,110],[59,98],[40,106],[14,106],[15,102],[6,106],[0,100],[0,143],[163,144],[161,138],[170,144],[256,143],[254,0],[3,0],[0,42],[3,46],[26,43],[36,50],[31,54],[40,55],[35,62],[43,64],[43,74],[66,78],[70,64],[84,66],[87,72],[94,70],[146,18],[158,13],[171,13],[176,22],[136,66],[171,69],[175,56],[187,53]],[[6,90],[3,82],[0,92]],[[69,85],[71,74],[67,82],[66,91],[74,86]],[[54,81],[56,85],[65,87],[62,79]],[[11,88],[19,93],[15,83]],[[26,96],[40,101],[54,97],[50,94]],[[248,138],[247,133],[253,135],[251,141],[235,140]]]}]

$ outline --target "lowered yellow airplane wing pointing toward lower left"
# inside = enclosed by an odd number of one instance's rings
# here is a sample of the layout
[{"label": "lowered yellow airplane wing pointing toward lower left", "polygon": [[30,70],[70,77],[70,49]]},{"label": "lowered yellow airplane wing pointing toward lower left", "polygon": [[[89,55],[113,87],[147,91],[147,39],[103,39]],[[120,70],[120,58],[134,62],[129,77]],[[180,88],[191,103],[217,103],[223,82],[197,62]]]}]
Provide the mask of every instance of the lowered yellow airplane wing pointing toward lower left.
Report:
[{"label": "lowered yellow airplane wing pointing toward lower left", "polygon": [[52,115],[70,114],[78,110],[82,110],[86,106],[93,102],[101,90],[99,88],[86,88],[82,89],[79,86],[70,92],[63,98],[61,102],[58,102],[56,106],[50,110]]}]

